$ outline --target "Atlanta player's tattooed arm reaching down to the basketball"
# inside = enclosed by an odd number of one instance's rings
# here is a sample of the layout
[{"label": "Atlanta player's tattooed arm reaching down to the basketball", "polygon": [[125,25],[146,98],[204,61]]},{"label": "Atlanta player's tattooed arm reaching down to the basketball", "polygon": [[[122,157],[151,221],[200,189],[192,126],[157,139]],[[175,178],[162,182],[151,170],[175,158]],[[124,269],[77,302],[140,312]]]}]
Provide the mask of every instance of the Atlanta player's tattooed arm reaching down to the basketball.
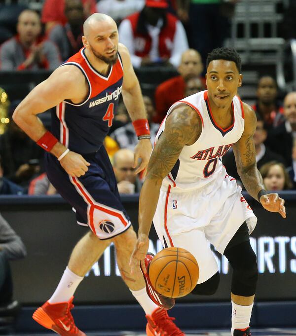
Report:
[{"label": "Atlanta player's tattooed arm reaching down to the basketball", "polygon": [[202,130],[201,119],[189,106],[179,105],[167,117],[165,129],[157,141],[149,163],[147,177],[140,194],[138,240],[131,256],[132,272],[148,251],[148,234],[156,210],[162,180],[174,167],[182,149],[192,145]]}]

